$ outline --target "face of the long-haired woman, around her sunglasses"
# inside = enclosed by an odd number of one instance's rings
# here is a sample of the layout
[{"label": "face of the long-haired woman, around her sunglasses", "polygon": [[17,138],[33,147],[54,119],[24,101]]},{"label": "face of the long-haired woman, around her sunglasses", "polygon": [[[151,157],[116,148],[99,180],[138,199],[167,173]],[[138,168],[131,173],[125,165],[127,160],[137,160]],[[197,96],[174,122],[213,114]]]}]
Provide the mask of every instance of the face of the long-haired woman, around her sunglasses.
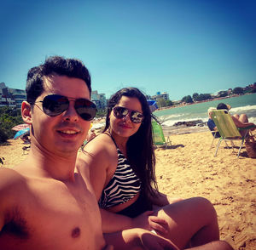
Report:
[{"label": "face of the long-haired woman, around her sunglasses", "polygon": [[[129,110],[129,114],[122,118],[117,118],[114,116],[113,110],[109,115],[110,129],[113,135],[120,137],[129,138],[131,135],[136,134],[137,130],[141,126],[140,123],[131,122],[131,111],[139,111],[143,114],[143,109],[140,101],[135,97],[122,96],[119,100],[119,104],[115,105],[121,106]],[[114,108],[113,107],[113,108]]]}]

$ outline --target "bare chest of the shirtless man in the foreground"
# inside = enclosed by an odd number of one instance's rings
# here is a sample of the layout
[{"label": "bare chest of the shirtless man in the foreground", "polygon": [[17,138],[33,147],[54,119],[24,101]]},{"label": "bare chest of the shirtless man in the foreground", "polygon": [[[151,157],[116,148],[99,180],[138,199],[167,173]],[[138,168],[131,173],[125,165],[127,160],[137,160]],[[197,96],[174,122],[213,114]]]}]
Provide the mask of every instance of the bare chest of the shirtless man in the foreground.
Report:
[{"label": "bare chest of the shirtless man in the foreground", "polygon": [[34,182],[28,190],[9,209],[1,237],[53,249],[65,242],[83,245],[101,231],[95,197],[85,186]]}]

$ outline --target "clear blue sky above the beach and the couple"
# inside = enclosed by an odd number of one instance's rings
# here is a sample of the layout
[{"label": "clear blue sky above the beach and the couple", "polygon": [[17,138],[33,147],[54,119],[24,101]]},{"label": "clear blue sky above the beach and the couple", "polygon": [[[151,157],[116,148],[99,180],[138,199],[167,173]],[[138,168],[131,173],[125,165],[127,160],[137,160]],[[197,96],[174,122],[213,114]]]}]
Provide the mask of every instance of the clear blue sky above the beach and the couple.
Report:
[{"label": "clear blue sky above the beach and the couple", "polygon": [[107,98],[128,86],[170,99],[256,82],[254,0],[5,0],[0,82],[25,89],[50,55],[79,58]]}]

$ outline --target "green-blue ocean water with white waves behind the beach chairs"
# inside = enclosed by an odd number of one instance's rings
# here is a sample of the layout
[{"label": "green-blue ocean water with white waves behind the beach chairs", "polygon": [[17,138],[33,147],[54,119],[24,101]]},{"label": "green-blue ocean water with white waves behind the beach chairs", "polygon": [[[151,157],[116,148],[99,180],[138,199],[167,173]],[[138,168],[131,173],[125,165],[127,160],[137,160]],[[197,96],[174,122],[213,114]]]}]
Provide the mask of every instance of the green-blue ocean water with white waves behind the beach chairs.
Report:
[{"label": "green-blue ocean water with white waves behind the beach chairs", "polygon": [[172,126],[175,122],[188,122],[199,119],[207,122],[208,108],[217,107],[220,102],[231,105],[231,115],[245,113],[249,122],[256,124],[256,93],[154,111],[154,115],[166,126]]}]

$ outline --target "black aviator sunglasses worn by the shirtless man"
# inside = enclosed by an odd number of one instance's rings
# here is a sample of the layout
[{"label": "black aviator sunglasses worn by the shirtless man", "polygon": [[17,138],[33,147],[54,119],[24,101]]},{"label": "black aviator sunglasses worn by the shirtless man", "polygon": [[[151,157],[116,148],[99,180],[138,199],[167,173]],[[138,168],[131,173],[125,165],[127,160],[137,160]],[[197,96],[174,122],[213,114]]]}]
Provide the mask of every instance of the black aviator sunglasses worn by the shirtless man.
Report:
[{"label": "black aviator sunglasses worn by the shirtless man", "polygon": [[69,99],[74,100],[74,108],[85,121],[91,121],[96,116],[96,105],[89,99],[67,98],[60,94],[49,94],[43,100],[36,101],[43,103],[43,111],[48,116],[59,116],[62,112],[67,111]]}]

